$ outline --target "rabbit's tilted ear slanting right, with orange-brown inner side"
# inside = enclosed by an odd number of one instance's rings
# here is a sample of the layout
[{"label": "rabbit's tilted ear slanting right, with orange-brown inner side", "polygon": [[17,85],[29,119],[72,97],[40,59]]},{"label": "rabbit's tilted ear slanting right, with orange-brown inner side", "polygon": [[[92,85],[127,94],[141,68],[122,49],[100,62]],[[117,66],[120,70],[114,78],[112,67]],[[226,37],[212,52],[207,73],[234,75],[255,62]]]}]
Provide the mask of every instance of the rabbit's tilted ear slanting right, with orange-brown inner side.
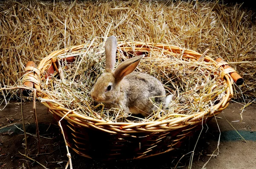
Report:
[{"label": "rabbit's tilted ear slanting right, with orange-brown inner side", "polygon": [[143,58],[143,56],[145,55],[136,56],[120,63],[120,65],[117,66],[114,72],[116,83],[120,82],[126,75],[133,72],[137,65],[139,65],[140,60]]}]

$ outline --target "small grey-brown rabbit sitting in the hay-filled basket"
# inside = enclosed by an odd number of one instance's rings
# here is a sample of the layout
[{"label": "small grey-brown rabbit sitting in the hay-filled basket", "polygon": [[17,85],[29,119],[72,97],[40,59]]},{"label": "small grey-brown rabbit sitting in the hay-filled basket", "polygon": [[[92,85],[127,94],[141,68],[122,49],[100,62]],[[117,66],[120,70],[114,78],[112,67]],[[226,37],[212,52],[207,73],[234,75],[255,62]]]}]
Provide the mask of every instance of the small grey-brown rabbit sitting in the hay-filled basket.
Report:
[{"label": "small grey-brown rabbit sitting in the hay-filled basket", "polygon": [[[155,77],[134,71],[145,55],[127,59],[114,70],[116,63],[116,37],[111,36],[105,43],[106,67],[104,73],[96,80],[90,95],[93,101],[102,102],[106,108],[122,107],[125,115],[141,114],[144,117],[158,110],[150,97],[155,97],[158,104],[163,103],[166,108],[173,95],[166,97],[163,84]],[[160,118],[160,115],[157,116]]]}]

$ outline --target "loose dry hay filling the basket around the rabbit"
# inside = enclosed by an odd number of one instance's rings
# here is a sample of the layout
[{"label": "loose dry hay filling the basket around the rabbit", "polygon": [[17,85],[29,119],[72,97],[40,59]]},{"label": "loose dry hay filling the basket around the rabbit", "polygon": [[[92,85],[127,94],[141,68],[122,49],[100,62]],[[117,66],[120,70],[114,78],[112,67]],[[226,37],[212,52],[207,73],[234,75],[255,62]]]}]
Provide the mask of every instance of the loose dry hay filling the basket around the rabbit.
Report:
[{"label": "loose dry hay filling the basket around the rabbit", "polygon": [[[73,63],[60,62],[60,71],[55,72],[52,77],[41,79],[41,92],[47,95],[47,99],[39,98],[41,101],[63,105],[69,110],[98,120],[150,122],[170,120],[212,109],[213,105],[221,101],[227,90],[220,79],[220,69],[215,67],[214,62],[205,62],[204,55],[198,60],[187,57],[187,54],[183,56],[182,53],[168,52],[164,48],[141,44],[139,50],[144,50],[147,55],[136,71],[160,79],[166,87],[167,94],[175,94],[175,99],[169,105],[169,109],[161,110],[162,105],[156,104],[154,98],[150,98],[152,104],[159,107],[156,112],[147,118],[134,115],[124,118],[127,115],[122,109],[112,108],[110,112],[103,104],[92,103],[90,90],[105,67],[105,43],[100,43],[99,38],[93,39],[92,42],[87,42],[81,51],[68,51],[53,57],[61,60],[76,56],[76,60]],[[126,50],[136,49],[135,44],[136,42],[119,42],[116,65],[128,59]],[[44,77],[45,73],[41,77]],[[160,119],[156,118],[158,114],[162,116]]]}]

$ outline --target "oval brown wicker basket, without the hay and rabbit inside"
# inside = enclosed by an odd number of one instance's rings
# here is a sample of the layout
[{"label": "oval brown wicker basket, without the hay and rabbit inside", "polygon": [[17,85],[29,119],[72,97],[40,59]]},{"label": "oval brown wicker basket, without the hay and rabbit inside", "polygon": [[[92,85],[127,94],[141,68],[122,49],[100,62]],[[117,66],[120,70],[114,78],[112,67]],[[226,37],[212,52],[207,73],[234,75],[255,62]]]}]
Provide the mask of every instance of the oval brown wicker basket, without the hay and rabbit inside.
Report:
[{"label": "oval brown wicker basket, without the hay and rabbit inside", "polygon": [[[119,49],[122,51],[131,51],[131,46],[127,44],[129,42],[120,46]],[[164,49],[167,54],[177,54],[179,57],[181,53],[183,53],[183,57],[187,58],[199,59],[202,56],[202,54],[195,51],[184,50],[177,46],[141,44],[142,42],[133,42],[135,48],[132,48],[132,50],[150,52],[150,50],[158,47]],[[54,51],[42,59],[38,68],[28,66],[26,71],[35,71],[25,76],[23,84],[25,82],[32,82],[34,88],[37,90],[36,97],[38,99],[49,99],[41,90],[40,83],[45,78],[42,72],[47,71],[48,73],[52,73],[53,71],[58,71],[58,55],[70,51],[79,52],[83,47],[84,45],[79,45]],[[214,115],[221,113],[233,97],[233,79],[230,73],[236,71],[233,68],[224,69],[222,66],[228,65],[227,62],[216,62],[209,56],[204,56],[203,59],[205,62],[213,62],[215,67],[221,69],[220,78],[227,87],[222,100],[206,112],[203,111],[166,121],[114,123],[85,117],[54,102],[42,102],[42,104],[48,107],[56,120],[60,120],[68,113],[64,117],[64,120],[61,121],[61,126],[63,127],[68,146],[79,155],[102,160],[141,159],[160,155],[179,147],[182,141],[193,135],[196,130],[200,130],[202,124],[209,121]]]}]

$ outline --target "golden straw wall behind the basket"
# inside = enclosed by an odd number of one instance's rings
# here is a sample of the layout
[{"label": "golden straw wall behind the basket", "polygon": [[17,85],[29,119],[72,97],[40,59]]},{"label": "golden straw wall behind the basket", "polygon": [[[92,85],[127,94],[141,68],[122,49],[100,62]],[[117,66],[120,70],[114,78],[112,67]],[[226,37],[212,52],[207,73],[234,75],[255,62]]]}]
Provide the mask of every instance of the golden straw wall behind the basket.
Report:
[{"label": "golden straw wall behind the basket", "polygon": [[209,48],[212,58],[235,62],[232,67],[244,77],[245,85],[237,88],[235,96],[241,98],[242,91],[244,99],[255,97],[256,63],[246,63],[256,61],[254,23],[253,11],[215,2],[4,1],[0,5],[0,87],[20,85],[28,61],[38,64],[51,51],[116,35],[199,53]]}]

